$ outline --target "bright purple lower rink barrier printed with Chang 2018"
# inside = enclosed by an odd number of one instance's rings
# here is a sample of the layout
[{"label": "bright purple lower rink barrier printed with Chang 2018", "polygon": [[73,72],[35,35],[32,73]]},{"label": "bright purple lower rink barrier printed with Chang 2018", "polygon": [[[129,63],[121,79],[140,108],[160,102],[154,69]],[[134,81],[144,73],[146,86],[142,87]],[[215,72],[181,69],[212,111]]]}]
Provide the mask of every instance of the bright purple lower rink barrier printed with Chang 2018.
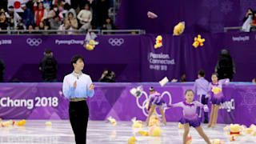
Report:
[{"label": "bright purple lower rink barrier printed with Chang 2018", "polygon": [[[105,120],[112,116],[118,121],[137,117],[146,120],[145,100],[149,87],[163,94],[166,102],[184,101],[185,90],[193,83],[95,83],[95,95],[88,99],[90,120]],[[140,98],[130,94],[134,87],[142,86]],[[218,113],[220,123],[256,124],[256,85],[230,83],[223,88],[226,102]],[[144,103],[144,104],[143,104]],[[62,94],[62,83],[5,83],[0,84],[0,118],[3,119],[68,119],[69,102]],[[158,111],[158,110],[157,110]],[[160,114],[158,112],[158,114]],[[182,109],[166,110],[166,120],[178,122]]]}]

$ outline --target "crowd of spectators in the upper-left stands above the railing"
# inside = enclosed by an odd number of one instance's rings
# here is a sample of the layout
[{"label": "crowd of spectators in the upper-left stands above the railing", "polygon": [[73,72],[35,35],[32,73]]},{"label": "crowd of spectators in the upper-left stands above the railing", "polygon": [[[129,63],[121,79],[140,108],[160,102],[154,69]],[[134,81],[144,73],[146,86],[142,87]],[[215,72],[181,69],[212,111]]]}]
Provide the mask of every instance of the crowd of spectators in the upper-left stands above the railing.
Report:
[{"label": "crowd of spectators in the upper-left stands above the railing", "polygon": [[[0,2],[0,30],[114,30],[109,17],[114,0],[30,0],[17,13]],[[68,34],[73,34],[69,32]]]}]

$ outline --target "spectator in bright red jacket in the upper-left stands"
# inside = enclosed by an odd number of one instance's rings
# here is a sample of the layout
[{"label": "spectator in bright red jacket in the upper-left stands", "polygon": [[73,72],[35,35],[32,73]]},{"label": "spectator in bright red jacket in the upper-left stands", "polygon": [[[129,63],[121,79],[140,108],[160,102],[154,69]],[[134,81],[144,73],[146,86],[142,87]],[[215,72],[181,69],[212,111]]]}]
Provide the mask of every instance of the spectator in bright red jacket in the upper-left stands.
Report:
[{"label": "spectator in bright red jacket in the upper-left stands", "polygon": [[40,22],[43,22],[47,18],[47,10],[44,9],[42,2],[38,4],[38,10],[34,13],[34,22],[36,26],[39,26]]}]

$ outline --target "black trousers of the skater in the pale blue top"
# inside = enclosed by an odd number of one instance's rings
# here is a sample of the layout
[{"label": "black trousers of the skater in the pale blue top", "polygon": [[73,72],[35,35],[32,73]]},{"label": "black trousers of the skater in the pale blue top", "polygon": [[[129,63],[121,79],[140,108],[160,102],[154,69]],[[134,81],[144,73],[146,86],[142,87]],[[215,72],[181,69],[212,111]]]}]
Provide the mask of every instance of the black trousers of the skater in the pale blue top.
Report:
[{"label": "black trousers of the skater in the pale blue top", "polygon": [[89,109],[86,101],[70,102],[69,114],[75,143],[85,144],[89,118]]}]

